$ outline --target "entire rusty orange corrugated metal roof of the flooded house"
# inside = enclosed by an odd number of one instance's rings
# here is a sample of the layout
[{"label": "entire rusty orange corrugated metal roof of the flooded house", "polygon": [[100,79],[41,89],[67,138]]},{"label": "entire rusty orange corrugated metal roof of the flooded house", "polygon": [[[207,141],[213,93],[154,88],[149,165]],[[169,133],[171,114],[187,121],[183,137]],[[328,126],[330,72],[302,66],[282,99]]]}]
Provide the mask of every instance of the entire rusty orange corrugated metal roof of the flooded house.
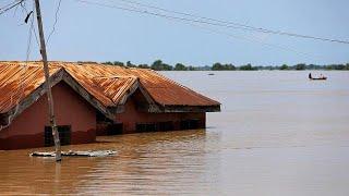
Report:
[{"label": "entire rusty orange corrugated metal roof of the flooded house", "polygon": [[[220,105],[152,70],[75,62],[50,62],[49,65],[50,74],[64,69],[105,107],[117,106],[135,83],[140,83],[152,99],[160,106]],[[11,109],[44,81],[41,62],[0,61],[0,94],[3,95],[0,97],[0,113]]]}]

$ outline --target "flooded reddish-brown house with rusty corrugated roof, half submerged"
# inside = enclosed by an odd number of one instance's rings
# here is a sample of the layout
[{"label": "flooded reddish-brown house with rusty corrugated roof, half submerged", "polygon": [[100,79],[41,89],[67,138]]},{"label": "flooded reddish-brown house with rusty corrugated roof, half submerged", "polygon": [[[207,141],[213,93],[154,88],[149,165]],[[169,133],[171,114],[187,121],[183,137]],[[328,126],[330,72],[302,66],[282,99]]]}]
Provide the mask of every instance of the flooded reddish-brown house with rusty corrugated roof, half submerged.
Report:
[{"label": "flooded reddish-brown house with rusty corrugated roof, half submerged", "polygon": [[[146,69],[50,62],[62,145],[96,135],[194,130],[220,103]],[[41,62],[0,62],[0,149],[51,146]]]}]

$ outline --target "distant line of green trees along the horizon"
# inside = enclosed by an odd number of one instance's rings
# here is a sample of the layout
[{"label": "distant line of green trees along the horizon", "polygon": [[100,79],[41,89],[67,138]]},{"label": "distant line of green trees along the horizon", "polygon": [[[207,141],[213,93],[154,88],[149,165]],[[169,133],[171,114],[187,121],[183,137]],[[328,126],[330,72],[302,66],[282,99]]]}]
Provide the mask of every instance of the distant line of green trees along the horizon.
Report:
[{"label": "distant line of green trees along the horizon", "polygon": [[140,68],[140,69],[152,69],[155,71],[256,71],[256,70],[349,70],[349,63],[347,64],[327,64],[327,65],[316,65],[316,64],[305,64],[299,63],[294,65],[257,65],[254,66],[252,64],[244,64],[236,66],[231,63],[219,63],[216,62],[213,65],[205,65],[205,66],[193,66],[193,65],[185,65],[182,63],[177,63],[174,65],[170,65],[164,63],[161,60],[154,61],[153,64],[133,64],[131,61],[127,63],[120,61],[113,62],[104,62],[103,64],[110,64],[110,65],[119,65],[125,68]]}]

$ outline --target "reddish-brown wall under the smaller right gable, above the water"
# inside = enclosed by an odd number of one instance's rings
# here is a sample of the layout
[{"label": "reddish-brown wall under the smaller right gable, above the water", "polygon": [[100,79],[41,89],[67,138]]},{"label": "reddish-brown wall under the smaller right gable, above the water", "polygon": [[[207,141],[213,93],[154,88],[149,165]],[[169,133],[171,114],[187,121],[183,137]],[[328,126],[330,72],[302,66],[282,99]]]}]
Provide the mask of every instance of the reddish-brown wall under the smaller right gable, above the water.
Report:
[{"label": "reddish-brown wall under the smaller right gable, above the water", "polygon": [[136,123],[154,123],[154,122],[173,122],[173,128],[180,130],[180,121],[198,119],[200,128],[206,126],[205,112],[173,112],[173,113],[148,113],[136,109],[136,100],[134,97],[130,98],[124,107],[124,112],[117,114],[117,122],[123,123],[123,133],[135,133]]}]

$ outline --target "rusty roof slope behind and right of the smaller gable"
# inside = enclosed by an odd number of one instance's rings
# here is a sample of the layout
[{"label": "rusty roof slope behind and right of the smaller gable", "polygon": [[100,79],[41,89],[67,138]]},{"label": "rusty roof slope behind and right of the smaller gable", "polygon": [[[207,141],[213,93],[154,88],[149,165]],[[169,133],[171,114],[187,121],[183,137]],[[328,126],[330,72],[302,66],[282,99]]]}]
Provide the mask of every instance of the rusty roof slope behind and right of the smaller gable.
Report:
[{"label": "rusty roof slope behind and right of the smaller gable", "polygon": [[137,77],[155,102],[161,106],[219,106],[220,103],[146,69],[125,69],[97,63],[62,63],[74,77]]}]

